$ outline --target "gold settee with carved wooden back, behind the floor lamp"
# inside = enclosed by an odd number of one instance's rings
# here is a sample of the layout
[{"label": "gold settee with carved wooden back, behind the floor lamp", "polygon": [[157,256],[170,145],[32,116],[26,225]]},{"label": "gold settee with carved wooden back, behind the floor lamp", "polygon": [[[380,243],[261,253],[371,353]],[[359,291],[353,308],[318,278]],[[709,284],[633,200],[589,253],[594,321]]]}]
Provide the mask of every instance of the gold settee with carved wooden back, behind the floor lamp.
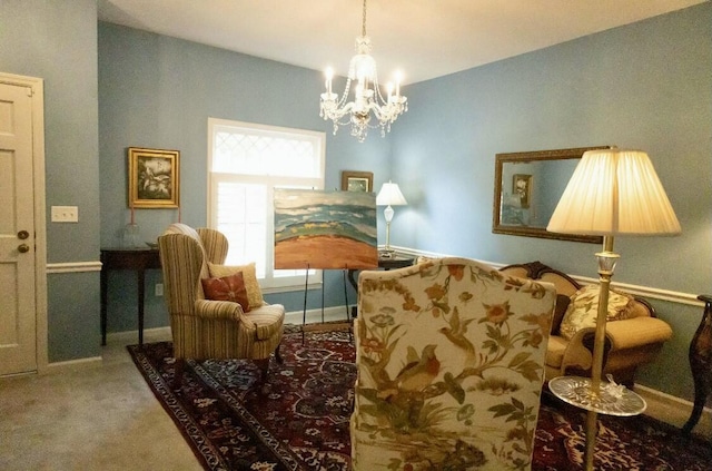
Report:
[{"label": "gold settee with carved wooden back, behind the floor lamp", "polygon": [[[566,375],[590,375],[592,365],[594,327],[582,328],[566,338],[560,327],[572,302],[571,296],[582,285],[566,274],[540,262],[508,265],[503,273],[528,279],[553,283],[557,301],[546,352],[546,379]],[[617,383],[632,387],[637,366],[651,362],[663,343],[672,336],[664,321],[655,317],[654,308],[644,300],[633,297],[626,306],[624,318],[606,323],[606,343],[603,374],[612,374]]]}]

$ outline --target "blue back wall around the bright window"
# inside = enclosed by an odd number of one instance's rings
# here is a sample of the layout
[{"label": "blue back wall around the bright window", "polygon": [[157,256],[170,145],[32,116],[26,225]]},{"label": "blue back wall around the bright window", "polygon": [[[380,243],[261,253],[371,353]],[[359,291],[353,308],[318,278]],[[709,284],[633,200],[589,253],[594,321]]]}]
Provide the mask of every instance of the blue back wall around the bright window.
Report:
[{"label": "blue back wall around the bright window", "polygon": [[[390,144],[374,131],[358,144],[344,128],[333,136],[319,117],[322,72],[159,36],[99,23],[99,144],[101,245],[120,245],[127,209],[127,147],[180,150],[182,222],[207,220],[208,118],[234,119],[325,131],[326,188],[340,187],[342,170],[374,173],[374,185],[388,177]],[[175,209],[137,210],[145,241],[154,241],[177,220]],[[146,326],[167,325],[162,298],[152,295],[160,273],[147,277]],[[135,330],[136,282],[130,273],[110,273],[108,330]],[[349,301],[356,294],[348,286]],[[287,311],[300,311],[304,293],[267,295]],[[326,306],[344,304],[340,272],[325,274]],[[322,305],[309,293],[309,308]]]}]

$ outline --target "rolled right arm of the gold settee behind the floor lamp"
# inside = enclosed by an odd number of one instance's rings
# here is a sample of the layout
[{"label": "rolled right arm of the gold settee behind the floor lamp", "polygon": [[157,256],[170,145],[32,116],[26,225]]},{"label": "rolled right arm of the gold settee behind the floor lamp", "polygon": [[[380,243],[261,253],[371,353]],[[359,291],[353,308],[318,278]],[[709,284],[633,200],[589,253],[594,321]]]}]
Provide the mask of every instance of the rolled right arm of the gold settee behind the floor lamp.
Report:
[{"label": "rolled right arm of the gold settee behind the floor lamp", "polygon": [[656,317],[633,317],[606,323],[606,336],[611,350],[625,350],[653,343],[662,343],[672,337],[672,328]]}]

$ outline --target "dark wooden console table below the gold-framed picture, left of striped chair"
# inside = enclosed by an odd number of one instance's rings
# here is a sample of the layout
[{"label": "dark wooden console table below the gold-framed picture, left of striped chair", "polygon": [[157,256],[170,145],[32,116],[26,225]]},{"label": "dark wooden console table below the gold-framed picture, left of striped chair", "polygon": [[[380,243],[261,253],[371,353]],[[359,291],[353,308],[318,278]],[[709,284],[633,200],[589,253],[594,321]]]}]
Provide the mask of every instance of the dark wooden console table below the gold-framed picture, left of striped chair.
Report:
[{"label": "dark wooden console table below the gold-framed picture, left of striped chair", "polygon": [[138,279],[138,343],[144,345],[144,296],[146,271],[160,268],[158,248],[101,249],[101,345],[107,344],[107,288],[110,269],[132,269]]}]

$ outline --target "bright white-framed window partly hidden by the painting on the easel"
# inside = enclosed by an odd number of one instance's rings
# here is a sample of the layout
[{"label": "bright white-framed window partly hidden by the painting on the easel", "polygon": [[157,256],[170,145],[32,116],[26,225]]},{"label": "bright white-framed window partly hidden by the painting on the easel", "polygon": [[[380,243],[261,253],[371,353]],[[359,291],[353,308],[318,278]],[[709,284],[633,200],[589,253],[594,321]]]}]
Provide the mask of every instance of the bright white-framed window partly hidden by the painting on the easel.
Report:
[{"label": "bright white-framed window partly hidden by the painting on the easel", "polygon": [[228,238],[226,264],[255,262],[265,291],[303,286],[306,269],[273,268],[273,195],[324,189],[325,134],[209,118],[208,143],[208,225]]}]

